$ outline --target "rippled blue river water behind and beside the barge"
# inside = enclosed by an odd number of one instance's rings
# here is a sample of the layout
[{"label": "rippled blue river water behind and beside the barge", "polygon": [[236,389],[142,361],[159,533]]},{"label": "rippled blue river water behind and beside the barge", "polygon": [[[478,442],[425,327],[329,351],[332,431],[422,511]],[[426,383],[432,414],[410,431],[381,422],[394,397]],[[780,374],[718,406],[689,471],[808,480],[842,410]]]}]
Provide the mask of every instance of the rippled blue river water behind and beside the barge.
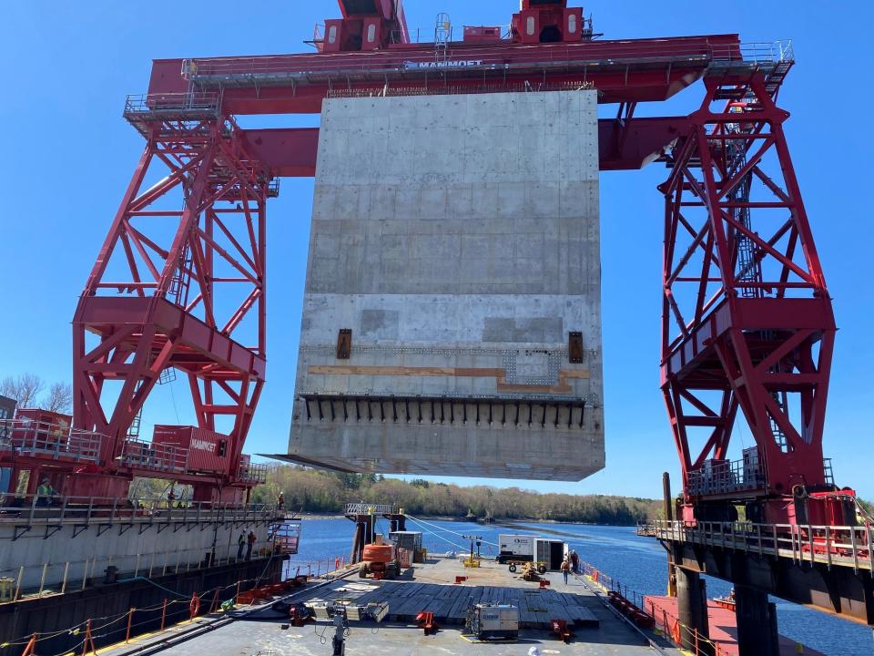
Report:
[{"label": "rippled blue river water behind and beside the barge", "polygon": [[[488,542],[496,543],[499,533],[532,533],[557,535],[580,557],[604,571],[615,580],[634,589],[638,594],[665,594],[665,551],[655,539],[638,538],[631,527],[605,527],[578,524],[535,524],[525,522],[515,528],[483,526],[469,522],[427,520],[427,524],[408,523],[408,530],[422,530],[424,546],[432,553],[450,549],[462,550],[465,540],[461,535],[483,538],[483,555],[495,553]],[[353,524],[345,518],[304,519],[300,538],[300,553],[293,557],[292,571],[300,567],[325,569],[334,559],[346,556],[351,547]],[[381,520],[377,529],[388,533],[388,522]],[[458,535],[460,534],[460,535]],[[707,578],[707,593],[712,597],[726,595],[729,584]],[[777,603],[779,631],[795,641],[803,642],[827,656],[871,656],[874,641],[868,627],[841,620],[817,610],[774,599]]]}]

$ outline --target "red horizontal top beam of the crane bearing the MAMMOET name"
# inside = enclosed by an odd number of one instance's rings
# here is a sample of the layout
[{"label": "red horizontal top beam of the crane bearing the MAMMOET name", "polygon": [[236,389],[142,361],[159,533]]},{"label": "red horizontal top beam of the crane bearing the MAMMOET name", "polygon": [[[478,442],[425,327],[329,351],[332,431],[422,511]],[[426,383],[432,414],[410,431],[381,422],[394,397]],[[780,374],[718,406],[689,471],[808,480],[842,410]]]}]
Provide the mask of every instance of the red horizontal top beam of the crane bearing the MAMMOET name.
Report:
[{"label": "red horizontal top beam of the crane bearing the MAMMOET name", "polygon": [[453,43],[369,52],[157,59],[148,94],[220,93],[229,113],[318,113],[321,100],[385,93],[483,93],[593,86],[599,102],[665,100],[715,64],[743,65],[737,34],[583,41]]}]

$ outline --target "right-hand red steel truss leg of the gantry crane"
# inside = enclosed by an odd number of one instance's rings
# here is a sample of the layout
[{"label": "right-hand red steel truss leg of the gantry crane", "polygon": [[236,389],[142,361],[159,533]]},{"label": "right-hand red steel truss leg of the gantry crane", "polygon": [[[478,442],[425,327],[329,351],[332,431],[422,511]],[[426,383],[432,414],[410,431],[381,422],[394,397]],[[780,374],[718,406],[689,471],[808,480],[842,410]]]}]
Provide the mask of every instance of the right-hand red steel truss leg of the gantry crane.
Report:
[{"label": "right-hand red steel truss leg of the gantry crane", "polygon": [[[717,108],[714,108],[714,107]],[[665,194],[662,391],[686,497],[823,486],[835,323],[762,77],[706,79]],[[727,457],[737,409],[761,471],[703,475]],[[732,489],[734,488],[734,489]]]}]

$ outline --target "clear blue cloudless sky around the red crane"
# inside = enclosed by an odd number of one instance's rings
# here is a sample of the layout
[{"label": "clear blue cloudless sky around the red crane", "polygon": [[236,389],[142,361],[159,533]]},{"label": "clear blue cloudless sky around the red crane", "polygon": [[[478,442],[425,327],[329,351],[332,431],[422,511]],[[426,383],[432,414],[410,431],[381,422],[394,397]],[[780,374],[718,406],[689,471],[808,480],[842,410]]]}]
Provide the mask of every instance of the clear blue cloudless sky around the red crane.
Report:
[{"label": "clear blue cloudless sky around the red crane", "polygon": [[[578,5],[579,2],[572,2]],[[509,22],[514,0],[408,0],[412,28],[431,34],[447,11],[455,25]],[[870,476],[871,337],[874,286],[869,191],[872,65],[869,2],[732,0],[595,2],[585,13],[606,38],[739,32],[744,41],[794,41],[798,66],[781,93],[798,178],[835,302],[837,353],[825,450],[839,485],[874,497]],[[150,60],[300,52],[313,26],[339,10],[331,0],[187,0],[185,3],[4,3],[0,56],[0,262],[4,302],[0,378],[32,371],[69,380],[69,322],[143,142],[121,118],[125,95],[144,93]],[[639,116],[686,113],[700,85]],[[262,119],[318,125],[318,117]],[[258,125],[244,120],[244,127]],[[662,198],[657,166],[601,176],[607,467],[578,484],[491,481],[538,490],[660,495],[664,470],[678,477],[658,390]],[[287,444],[310,221],[311,180],[282,181],[269,206],[268,384],[249,452]],[[188,384],[158,387],[144,435],[155,423],[193,422]],[[735,436],[752,444],[748,431]],[[461,481],[467,482],[467,481]]]}]

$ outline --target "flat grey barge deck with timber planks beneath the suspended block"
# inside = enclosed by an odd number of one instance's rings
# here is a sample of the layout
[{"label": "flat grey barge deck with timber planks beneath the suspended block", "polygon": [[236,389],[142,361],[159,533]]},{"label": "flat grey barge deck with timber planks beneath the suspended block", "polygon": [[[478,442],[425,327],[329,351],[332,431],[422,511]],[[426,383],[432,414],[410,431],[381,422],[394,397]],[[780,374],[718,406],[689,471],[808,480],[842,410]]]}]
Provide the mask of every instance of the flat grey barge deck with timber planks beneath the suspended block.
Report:
[{"label": "flat grey barge deck with timber planks beneath the suspended block", "polygon": [[[467,579],[456,584],[456,576]],[[289,601],[310,607],[345,603],[350,618],[356,616],[356,607],[388,603],[389,612],[379,624],[350,621],[347,656],[525,656],[532,647],[562,656],[681,656],[664,637],[645,636],[620,619],[584,577],[572,576],[565,584],[561,573],[549,572],[545,579],[549,585],[540,589],[538,583],[517,578],[494,561],[464,568],[459,559],[430,558],[391,581],[360,579],[355,571],[330,581],[317,579]],[[462,635],[467,610],[477,601],[517,604],[522,620],[518,640],[477,642]],[[424,635],[415,624],[420,611],[433,612],[441,630]],[[236,617],[231,620],[229,615]],[[574,631],[570,643],[550,630],[553,619],[568,621]],[[268,603],[199,618],[192,631],[189,639],[153,634],[100,650],[100,656],[329,656],[334,633],[328,620],[289,626],[288,617]],[[650,640],[657,641],[655,649]]]}]

